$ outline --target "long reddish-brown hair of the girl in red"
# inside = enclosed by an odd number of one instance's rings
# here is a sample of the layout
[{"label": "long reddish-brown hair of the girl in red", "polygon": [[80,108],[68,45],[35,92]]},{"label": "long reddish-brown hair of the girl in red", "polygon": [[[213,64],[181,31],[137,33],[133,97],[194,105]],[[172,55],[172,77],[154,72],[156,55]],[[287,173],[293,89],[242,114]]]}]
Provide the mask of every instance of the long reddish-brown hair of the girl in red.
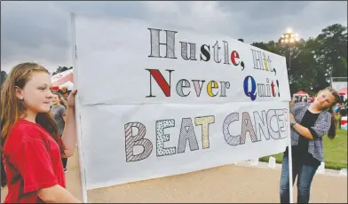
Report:
[{"label": "long reddish-brown hair of the girl in red", "polygon": [[[4,172],[3,148],[14,124],[19,121],[20,115],[26,110],[22,100],[16,97],[15,87],[23,89],[34,73],[48,70],[36,63],[25,62],[12,68],[11,73],[5,79],[1,89],[1,186],[6,185],[6,174]],[[36,114],[36,123],[46,129],[51,137],[58,143],[58,128],[50,113]],[[60,149],[63,153],[63,150]]]}]

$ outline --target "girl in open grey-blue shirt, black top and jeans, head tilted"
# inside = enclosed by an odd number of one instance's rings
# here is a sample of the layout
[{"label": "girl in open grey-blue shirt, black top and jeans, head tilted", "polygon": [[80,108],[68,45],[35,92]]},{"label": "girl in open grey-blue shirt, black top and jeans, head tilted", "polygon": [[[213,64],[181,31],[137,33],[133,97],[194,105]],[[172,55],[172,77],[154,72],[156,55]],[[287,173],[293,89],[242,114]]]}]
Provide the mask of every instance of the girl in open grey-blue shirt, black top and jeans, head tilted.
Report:
[{"label": "girl in open grey-blue shirt, black top and jeans, head tilted", "polygon": [[[338,102],[336,90],[320,90],[314,102],[297,103],[290,109],[292,175],[297,177],[297,202],[308,203],[312,178],[324,161],[322,137],[336,136],[333,106]],[[289,152],[284,153],[281,169],[281,203],[289,203]]]}]

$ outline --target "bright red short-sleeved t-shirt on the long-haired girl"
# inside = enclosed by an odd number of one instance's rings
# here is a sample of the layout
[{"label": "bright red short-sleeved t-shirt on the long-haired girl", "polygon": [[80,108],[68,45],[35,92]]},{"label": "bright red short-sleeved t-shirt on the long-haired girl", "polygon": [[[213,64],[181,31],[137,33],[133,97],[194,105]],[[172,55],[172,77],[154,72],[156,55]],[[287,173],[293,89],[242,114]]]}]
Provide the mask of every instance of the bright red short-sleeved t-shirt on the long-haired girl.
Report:
[{"label": "bright red short-sleeved t-shirt on the long-haired girl", "polygon": [[37,190],[56,184],[66,187],[59,143],[39,124],[15,123],[4,145],[8,188],[4,202],[44,202]]}]

